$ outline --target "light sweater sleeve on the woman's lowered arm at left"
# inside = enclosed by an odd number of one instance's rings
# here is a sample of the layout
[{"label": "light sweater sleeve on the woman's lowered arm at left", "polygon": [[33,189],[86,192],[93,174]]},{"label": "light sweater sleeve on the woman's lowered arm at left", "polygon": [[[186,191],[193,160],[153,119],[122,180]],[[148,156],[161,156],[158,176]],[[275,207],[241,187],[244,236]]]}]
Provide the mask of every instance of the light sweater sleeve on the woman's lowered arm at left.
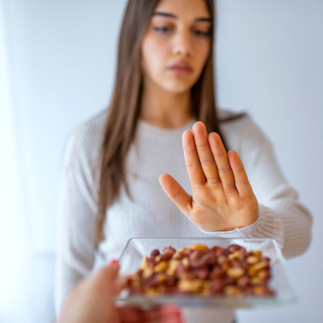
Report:
[{"label": "light sweater sleeve on the woman's lowered arm at left", "polygon": [[97,223],[94,176],[84,144],[70,136],[58,192],[55,310],[60,315],[66,295],[91,271]]}]

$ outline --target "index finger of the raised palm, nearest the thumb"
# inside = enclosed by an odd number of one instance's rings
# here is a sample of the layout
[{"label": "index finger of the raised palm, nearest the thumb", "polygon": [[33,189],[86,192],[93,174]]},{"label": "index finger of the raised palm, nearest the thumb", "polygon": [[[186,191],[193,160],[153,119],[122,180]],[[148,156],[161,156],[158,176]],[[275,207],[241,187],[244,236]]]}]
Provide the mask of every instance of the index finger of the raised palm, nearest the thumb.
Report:
[{"label": "index finger of the raised palm, nearest the thumb", "polygon": [[191,185],[204,185],[206,183],[206,177],[197,154],[194,137],[191,130],[185,130],[183,132],[182,142],[185,164]]}]

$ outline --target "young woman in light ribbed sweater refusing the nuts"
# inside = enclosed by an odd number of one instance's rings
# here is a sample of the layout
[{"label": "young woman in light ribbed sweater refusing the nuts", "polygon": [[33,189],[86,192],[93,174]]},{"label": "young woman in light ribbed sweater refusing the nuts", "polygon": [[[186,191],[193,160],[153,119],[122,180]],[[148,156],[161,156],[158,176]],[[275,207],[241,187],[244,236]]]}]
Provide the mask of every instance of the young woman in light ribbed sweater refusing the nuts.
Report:
[{"label": "young woman in light ribbed sweater refusing the nuts", "polygon": [[[271,141],[249,116],[216,108],[213,40],[212,0],[129,1],[109,109],[68,142],[57,314],[95,261],[118,258],[131,237],[270,237],[286,257],[307,249],[312,218]],[[185,316],[234,320],[230,309]]]}]

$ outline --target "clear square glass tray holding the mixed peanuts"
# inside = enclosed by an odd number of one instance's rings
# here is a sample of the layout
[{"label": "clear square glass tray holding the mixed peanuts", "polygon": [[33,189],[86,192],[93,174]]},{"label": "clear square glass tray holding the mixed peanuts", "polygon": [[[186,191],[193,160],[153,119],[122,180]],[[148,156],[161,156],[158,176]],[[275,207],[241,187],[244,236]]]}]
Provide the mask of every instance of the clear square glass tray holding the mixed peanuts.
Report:
[{"label": "clear square glass tray holding the mixed peanuts", "polygon": [[140,267],[143,256],[149,256],[151,251],[162,251],[167,246],[175,249],[188,247],[200,243],[212,247],[214,245],[227,247],[229,245],[241,245],[247,250],[261,249],[263,255],[270,258],[272,278],[269,287],[275,292],[275,296],[225,296],[225,295],[161,295],[149,297],[145,294],[129,295],[122,291],[116,298],[121,305],[133,305],[148,309],[161,304],[176,304],[180,307],[258,307],[266,305],[286,305],[297,301],[298,296],[295,287],[295,279],[288,270],[286,260],[283,257],[274,239],[227,239],[227,238],[133,238],[130,239],[120,257],[120,274],[133,274]]}]

